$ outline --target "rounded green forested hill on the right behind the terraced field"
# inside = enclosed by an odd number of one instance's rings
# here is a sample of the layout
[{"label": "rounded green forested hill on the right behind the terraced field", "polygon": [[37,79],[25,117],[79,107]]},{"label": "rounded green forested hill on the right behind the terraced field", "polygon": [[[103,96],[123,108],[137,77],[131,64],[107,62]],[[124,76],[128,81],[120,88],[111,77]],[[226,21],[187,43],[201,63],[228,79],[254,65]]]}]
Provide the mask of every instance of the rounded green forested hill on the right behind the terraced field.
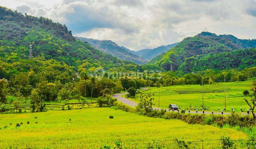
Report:
[{"label": "rounded green forested hill on the right behind the terraced field", "polygon": [[[240,65],[250,67],[251,60],[255,60],[255,49],[251,49],[249,53],[240,50],[244,53],[245,57],[233,55],[234,50],[255,48],[256,39],[238,39],[233,35],[216,35],[214,33],[202,32],[194,37],[187,37],[177,44],[174,48],[167,51],[165,54],[161,54],[155,57],[153,60],[146,64],[147,67],[161,67],[164,70],[183,70],[185,72],[191,72],[191,70],[205,70],[208,68],[223,69],[239,68]],[[229,55],[228,59],[219,59],[222,55]],[[235,53],[234,53],[235,54]],[[213,61],[211,56],[215,56],[216,60]],[[198,63],[204,62],[200,66]],[[191,62],[192,61],[192,62]],[[213,64],[215,62],[215,64]],[[235,65],[226,65],[226,63],[234,63]],[[239,63],[243,62],[243,63]],[[223,65],[226,65],[225,67]],[[145,66],[145,67],[146,67]],[[200,68],[199,68],[200,67]]]}]

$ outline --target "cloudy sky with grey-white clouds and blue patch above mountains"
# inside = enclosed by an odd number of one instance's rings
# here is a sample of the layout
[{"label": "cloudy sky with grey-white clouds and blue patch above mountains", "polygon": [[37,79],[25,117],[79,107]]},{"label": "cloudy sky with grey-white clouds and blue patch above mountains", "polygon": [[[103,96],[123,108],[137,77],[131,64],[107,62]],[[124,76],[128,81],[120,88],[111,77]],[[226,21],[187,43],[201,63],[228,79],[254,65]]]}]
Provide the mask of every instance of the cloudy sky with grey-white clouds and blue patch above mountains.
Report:
[{"label": "cloudy sky with grey-white clouds and blue patch above mountains", "polygon": [[0,5],[135,51],[202,31],[256,38],[256,0],[0,0]]}]

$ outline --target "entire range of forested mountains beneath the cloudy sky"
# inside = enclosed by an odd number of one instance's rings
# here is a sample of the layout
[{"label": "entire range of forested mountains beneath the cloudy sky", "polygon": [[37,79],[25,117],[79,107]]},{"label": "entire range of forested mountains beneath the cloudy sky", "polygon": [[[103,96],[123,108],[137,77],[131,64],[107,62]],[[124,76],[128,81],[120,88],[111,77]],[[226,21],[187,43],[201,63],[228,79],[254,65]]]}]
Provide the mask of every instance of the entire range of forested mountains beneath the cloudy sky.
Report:
[{"label": "entire range of forested mountains beneath the cloudy sky", "polygon": [[[111,40],[79,39],[65,24],[0,6],[0,78],[9,79],[19,72],[45,73],[45,67],[63,72],[105,68],[118,72],[162,70],[186,74],[256,66],[256,39],[238,39],[233,35],[202,32],[180,43],[140,51]],[[64,74],[60,73],[60,78]],[[52,76],[56,75],[48,77]]]}]

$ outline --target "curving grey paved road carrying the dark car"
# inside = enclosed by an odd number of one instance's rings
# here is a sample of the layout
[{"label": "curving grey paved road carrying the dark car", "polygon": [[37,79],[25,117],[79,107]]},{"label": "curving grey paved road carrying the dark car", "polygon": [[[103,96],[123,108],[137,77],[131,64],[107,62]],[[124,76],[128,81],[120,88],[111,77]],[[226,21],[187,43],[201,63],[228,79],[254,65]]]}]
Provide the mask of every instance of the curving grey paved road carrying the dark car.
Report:
[{"label": "curving grey paved road carrying the dark car", "polygon": [[[142,90],[146,90],[148,88],[141,88]],[[130,99],[127,99],[127,98],[124,98],[122,97],[122,95],[124,94],[128,94],[127,92],[124,92],[124,93],[118,93],[118,94],[113,94],[112,97],[113,98],[116,98],[118,101],[120,101],[121,103],[123,104],[126,104],[126,105],[129,105],[129,106],[132,106],[132,107],[135,107],[138,105],[138,103],[136,103],[135,101],[132,101]],[[161,110],[161,109],[164,109],[166,111],[169,111],[169,109],[165,109],[165,108],[159,108],[159,107],[153,107],[154,110]],[[178,112],[178,111],[175,111],[175,112]],[[188,111],[186,110],[186,113],[198,113],[198,114],[203,114],[203,111]],[[212,112],[207,112],[205,111],[204,114],[212,114]],[[213,114],[217,114],[217,115],[221,115],[222,112],[213,112]],[[230,112],[223,112],[223,115],[230,115],[231,113]],[[241,112],[242,115],[247,115],[246,112]]]}]

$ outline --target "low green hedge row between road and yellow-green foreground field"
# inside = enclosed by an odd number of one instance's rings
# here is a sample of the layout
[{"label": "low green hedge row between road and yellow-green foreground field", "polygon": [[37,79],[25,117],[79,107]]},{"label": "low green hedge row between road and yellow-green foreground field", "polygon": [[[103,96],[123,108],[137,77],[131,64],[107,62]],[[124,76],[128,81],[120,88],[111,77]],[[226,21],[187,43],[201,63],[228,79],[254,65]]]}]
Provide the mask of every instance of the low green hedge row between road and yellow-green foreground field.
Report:
[{"label": "low green hedge row between road and yellow-green foreground field", "polygon": [[179,112],[166,112],[164,110],[152,110],[146,113],[143,109],[138,107],[132,108],[118,102],[114,102],[114,108],[123,110],[126,112],[138,113],[149,117],[161,117],[165,119],[179,119],[189,124],[201,124],[201,125],[217,125],[224,126],[240,126],[252,128],[256,126],[256,121],[251,116],[242,116],[239,113],[233,112],[231,115],[205,115],[205,114],[182,114]]}]

